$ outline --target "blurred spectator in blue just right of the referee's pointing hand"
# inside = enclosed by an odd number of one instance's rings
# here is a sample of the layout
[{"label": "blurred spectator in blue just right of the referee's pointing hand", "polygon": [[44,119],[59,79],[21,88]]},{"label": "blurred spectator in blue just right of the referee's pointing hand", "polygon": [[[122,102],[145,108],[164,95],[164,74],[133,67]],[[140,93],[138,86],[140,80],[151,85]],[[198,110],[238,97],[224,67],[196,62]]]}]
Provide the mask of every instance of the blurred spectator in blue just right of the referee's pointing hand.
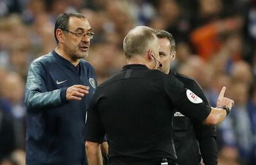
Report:
[{"label": "blurred spectator in blue just right of the referee's pointing hand", "polygon": [[242,82],[234,82],[232,84],[232,92],[236,104],[232,113],[227,117],[228,120],[220,124],[221,138],[223,138],[224,147],[236,147],[241,162],[249,164],[253,149],[253,136],[247,107],[248,86]]}]

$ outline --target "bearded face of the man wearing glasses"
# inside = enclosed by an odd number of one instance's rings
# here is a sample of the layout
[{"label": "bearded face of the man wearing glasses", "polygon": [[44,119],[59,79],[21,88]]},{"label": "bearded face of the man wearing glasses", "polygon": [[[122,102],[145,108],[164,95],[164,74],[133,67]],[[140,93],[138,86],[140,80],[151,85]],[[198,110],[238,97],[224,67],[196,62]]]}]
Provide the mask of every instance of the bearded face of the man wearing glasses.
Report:
[{"label": "bearded face of the man wearing glasses", "polygon": [[90,23],[86,18],[70,17],[68,21],[68,31],[65,34],[64,50],[71,59],[82,59],[87,57],[90,47],[90,38],[86,34],[78,37],[72,32],[91,32]]}]

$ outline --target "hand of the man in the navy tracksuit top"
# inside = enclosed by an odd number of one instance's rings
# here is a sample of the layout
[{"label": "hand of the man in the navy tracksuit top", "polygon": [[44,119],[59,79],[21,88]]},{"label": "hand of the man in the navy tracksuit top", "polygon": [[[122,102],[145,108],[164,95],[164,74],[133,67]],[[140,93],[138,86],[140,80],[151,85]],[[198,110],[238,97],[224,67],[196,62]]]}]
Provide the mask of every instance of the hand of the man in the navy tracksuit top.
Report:
[{"label": "hand of the man in the navy tracksuit top", "polygon": [[73,85],[68,87],[66,92],[67,100],[81,100],[86,94],[89,94],[90,87],[84,85]]}]

